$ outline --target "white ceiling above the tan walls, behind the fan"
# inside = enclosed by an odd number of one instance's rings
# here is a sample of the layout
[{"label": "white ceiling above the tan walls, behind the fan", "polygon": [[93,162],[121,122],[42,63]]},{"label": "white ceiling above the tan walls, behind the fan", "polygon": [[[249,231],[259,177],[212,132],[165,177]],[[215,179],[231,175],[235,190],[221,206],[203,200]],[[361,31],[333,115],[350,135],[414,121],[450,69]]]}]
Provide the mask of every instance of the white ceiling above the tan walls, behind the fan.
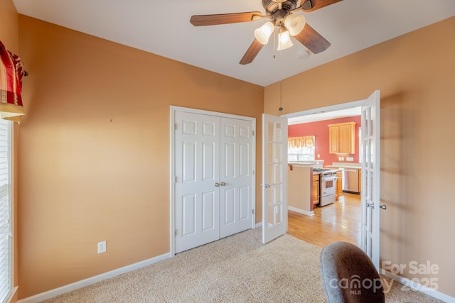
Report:
[{"label": "white ceiling above the tan walls, behind the fan", "polygon": [[[14,0],[18,13],[267,86],[358,50],[455,16],[454,0],[343,0],[306,21],[331,47],[308,57],[294,47],[274,58],[273,41],[250,65],[238,62],[266,20],[194,27],[192,15],[260,11],[261,0]],[[303,13],[303,12],[299,12]],[[429,47],[424,45],[422,48]]]}]

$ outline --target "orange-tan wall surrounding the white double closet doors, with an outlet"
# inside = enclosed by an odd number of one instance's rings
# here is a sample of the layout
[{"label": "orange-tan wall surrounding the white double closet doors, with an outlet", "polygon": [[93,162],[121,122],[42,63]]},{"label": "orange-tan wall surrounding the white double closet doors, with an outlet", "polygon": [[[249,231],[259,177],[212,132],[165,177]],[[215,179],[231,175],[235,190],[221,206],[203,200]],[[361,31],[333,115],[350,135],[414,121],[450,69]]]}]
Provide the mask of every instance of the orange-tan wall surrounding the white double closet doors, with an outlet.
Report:
[{"label": "orange-tan wall surrounding the white double closet doors, with an outlet", "polygon": [[20,298],[169,252],[169,106],[262,133],[263,87],[21,15],[19,45]]}]

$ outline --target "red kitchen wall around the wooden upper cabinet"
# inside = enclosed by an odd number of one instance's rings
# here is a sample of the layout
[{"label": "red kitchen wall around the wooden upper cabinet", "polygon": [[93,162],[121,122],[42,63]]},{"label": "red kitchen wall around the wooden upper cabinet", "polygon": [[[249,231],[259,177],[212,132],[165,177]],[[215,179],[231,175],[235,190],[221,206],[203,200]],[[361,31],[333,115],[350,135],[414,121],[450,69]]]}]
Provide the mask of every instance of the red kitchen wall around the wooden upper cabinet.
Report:
[{"label": "red kitchen wall around the wooden upper cabinet", "polygon": [[[356,122],[355,124],[355,154],[336,155],[328,153],[328,124]],[[294,124],[288,126],[288,137],[315,136],[316,150],[315,160],[324,160],[324,165],[331,165],[333,162],[358,163],[358,128],[360,127],[360,116],[353,116],[341,119],[323,120],[309,123]],[[319,157],[318,157],[319,155]],[[353,157],[353,161],[346,161],[346,156]],[[344,160],[338,160],[343,157]]]}]

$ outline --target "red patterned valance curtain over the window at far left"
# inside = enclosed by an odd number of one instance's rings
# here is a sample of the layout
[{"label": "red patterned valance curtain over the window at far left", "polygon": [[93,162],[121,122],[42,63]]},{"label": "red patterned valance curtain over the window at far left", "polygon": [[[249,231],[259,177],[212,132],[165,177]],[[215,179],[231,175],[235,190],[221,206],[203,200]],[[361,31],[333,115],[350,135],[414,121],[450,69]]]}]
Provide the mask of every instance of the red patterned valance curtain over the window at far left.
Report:
[{"label": "red patterned valance curtain over the window at far left", "polygon": [[0,57],[0,118],[19,122],[25,114],[21,94],[25,70],[21,58],[6,50],[1,41]]}]

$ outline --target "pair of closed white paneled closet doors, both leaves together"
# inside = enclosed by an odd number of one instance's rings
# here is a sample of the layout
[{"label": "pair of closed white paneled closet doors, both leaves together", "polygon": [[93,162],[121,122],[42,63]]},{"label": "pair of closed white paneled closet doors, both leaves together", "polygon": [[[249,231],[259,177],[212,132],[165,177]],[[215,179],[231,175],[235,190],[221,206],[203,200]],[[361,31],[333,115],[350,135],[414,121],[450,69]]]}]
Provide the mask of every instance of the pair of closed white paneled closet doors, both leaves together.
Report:
[{"label": "pair of closed white paneled closet doors, both leaves together", "polygon": [[190,109],[172,119],[173,251],[252,228],[254,119]]}]

